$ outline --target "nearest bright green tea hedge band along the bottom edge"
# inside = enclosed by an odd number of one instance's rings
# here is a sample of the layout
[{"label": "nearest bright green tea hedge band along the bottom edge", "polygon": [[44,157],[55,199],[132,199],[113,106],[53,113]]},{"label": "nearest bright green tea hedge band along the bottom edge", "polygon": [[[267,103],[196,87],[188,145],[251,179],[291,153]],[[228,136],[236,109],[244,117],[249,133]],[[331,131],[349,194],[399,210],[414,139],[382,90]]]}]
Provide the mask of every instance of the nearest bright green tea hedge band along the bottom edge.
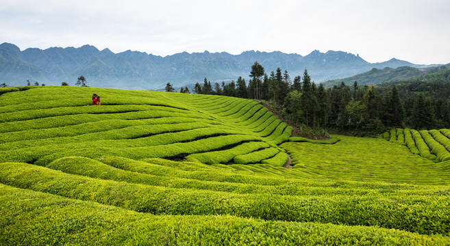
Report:
[{"label": "nearest bright green tea hedge band along the bottom edge", "polygon": [[0,203],[1,245],[449,244],[445,236],[365,226],[262,221],[221,215],[149,215],[3,184],[0,184]]}]

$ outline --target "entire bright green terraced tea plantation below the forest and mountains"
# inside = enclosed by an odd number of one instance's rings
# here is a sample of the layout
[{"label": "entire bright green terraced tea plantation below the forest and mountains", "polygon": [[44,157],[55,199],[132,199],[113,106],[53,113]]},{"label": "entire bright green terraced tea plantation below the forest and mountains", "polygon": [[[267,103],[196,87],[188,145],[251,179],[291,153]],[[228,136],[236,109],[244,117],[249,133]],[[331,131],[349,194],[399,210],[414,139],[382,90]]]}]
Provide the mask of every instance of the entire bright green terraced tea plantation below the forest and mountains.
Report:
[{"label": "entire bright green terraced tea plantation below the forest and mountains", "polygon": [[0,93],[0,245],[450,245],[445,130],[424,158],[397,130],[290,137],[239,98]]}]

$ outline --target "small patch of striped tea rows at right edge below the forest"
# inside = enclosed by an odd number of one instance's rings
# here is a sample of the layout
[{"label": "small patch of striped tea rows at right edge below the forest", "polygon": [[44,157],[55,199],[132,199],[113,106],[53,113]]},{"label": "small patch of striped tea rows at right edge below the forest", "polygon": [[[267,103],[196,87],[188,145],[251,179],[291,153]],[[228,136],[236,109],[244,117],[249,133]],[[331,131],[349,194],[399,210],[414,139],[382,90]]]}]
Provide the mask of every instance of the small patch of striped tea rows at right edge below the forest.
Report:
[{"label": "small patch of striped tea rows at right edge below the forest", "polygon": [[450,160],[450,130],[422,130],[392,129],[384,133],[383,137],[389,141],[408,146],[413,154],[432,161]]}]

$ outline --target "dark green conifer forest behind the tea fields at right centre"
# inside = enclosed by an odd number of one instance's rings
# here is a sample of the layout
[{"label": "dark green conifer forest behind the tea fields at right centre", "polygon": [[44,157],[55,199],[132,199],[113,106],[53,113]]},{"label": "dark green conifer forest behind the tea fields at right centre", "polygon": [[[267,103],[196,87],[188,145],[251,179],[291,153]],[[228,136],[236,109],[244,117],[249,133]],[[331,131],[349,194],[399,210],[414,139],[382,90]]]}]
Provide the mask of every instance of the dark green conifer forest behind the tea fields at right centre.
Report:
[{"label": "dark green conifer forest behind the tea fields at right centre", "polygon": [[392,127],[450,128],[448,68],[381,85],[360,86],[354,81],[352,86],[341,83],[328,89],[312,82],[306,69],[303,77],[292,80],[287,70],[277,68],[268,75],[255,62],[249,77],[248,85],[242,77],[236,83],[214,85],[205,78],[194,91],[260,100],[290,124],[315,135],[329,130],[378,134]]}]

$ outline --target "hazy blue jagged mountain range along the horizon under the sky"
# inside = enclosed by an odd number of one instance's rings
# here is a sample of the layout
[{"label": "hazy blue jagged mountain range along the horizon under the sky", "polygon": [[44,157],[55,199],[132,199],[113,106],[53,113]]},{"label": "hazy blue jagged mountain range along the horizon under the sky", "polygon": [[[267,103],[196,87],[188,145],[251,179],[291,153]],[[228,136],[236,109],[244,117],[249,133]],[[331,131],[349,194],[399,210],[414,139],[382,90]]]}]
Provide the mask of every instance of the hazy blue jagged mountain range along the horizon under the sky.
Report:
[{"label": "hazy blue jagged mountain range along the horizon under the sky", "polygon": [[21,51],[10,43],[0,44],[0,83],[10,86],[34,84],[75,85],[83,75],[91,87],[112,87],[128,90],[158,90],[166,83],[175,87],[211,82],[232,81],[238,77],[249,80],[251,66],[258,61],[267,74],[278,67],[287,70],[290,77],[308,74],[316,83],[351,77],[372,68],[421,67],[408,61],[392,58],[382,63],[369,63],[359,55],[343,51],[312,51],[309,55],[245,51],[229,53],[177,53],[161,57],[138,51],[113,53],[100,51],[95,46],[79,48],[29,48]]}]

